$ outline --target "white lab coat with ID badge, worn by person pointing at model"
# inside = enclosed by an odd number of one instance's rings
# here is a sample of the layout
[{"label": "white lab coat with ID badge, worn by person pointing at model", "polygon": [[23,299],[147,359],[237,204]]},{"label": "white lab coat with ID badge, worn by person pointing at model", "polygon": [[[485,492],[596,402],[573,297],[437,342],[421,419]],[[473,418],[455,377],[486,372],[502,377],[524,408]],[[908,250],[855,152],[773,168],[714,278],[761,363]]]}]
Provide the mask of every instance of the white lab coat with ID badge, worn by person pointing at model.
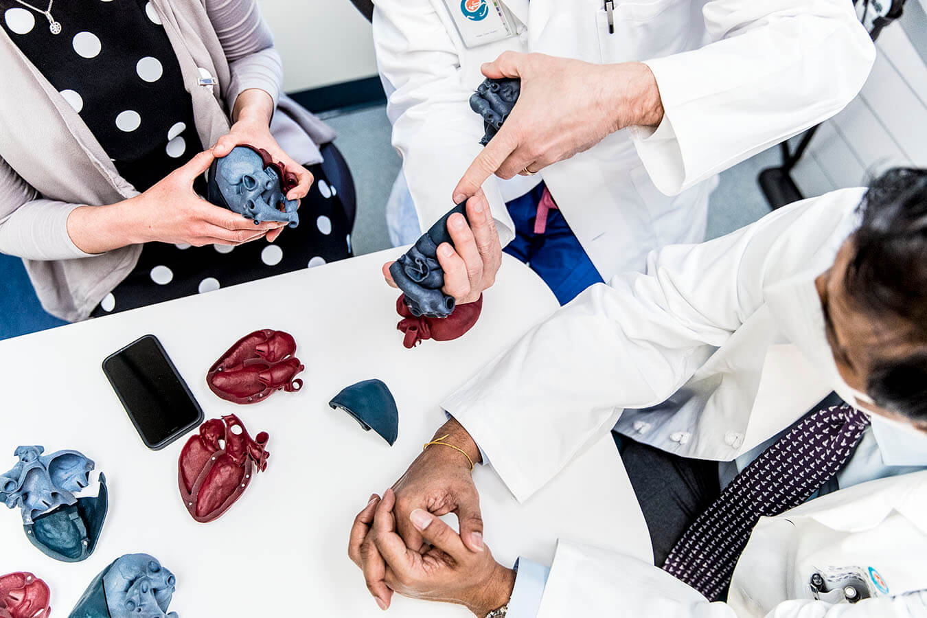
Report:
[{"label": "white lab coat with ID badge, worn by person pointing at model", "polygon": [[874,58],[850,0],[616,0],[614,34],[603,0],[505,4],[523,32],[466,49],[444,0],[376,0],[393,145],[422,229],[451,207],[482,148],[468,104],[481,63],[505,50],[645,60],[666,110],[655,133],[616,132],[537,176],[484,185],[505,245],[514,232],[504,202],[543,179],[606,281],[641,271],[657,246],[703,240],[715,174],[840,111]]}]

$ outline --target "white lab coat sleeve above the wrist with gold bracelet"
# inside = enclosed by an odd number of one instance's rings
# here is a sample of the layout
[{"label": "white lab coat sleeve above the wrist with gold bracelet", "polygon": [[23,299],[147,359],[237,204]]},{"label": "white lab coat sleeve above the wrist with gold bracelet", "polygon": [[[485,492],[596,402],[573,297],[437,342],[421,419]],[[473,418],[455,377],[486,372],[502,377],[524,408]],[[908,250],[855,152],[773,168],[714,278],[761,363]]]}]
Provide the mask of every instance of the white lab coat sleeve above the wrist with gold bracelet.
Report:
[{"label": "white lab coat sleeve above the wrist with gold bracelet", "polygon": [[646,274],[593,285],[442,407],[525,500],[621,410],[653,406],[685,384],[762,306],[768,284],[806,269],[862,195],[833,192],[701,245],[652,252]]}]

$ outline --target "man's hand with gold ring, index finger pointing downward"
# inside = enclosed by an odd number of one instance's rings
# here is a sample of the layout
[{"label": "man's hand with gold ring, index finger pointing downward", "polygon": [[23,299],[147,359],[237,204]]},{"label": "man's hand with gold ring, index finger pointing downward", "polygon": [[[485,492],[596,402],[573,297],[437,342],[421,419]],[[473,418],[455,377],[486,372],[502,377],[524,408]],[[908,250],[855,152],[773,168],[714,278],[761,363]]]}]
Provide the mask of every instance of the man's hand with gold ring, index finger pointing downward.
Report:
[{"label": "man's hand with gold ring, index finger pointing downward", "polygon": [[656,126],[663,103],[641,62],[598,65],[543,54],[505,52],[483,65],[490,79],[521,79],[521,95],[502,129],[454,189],[454,203],[475,195],[489,176],[534,173],[632,125]]}]

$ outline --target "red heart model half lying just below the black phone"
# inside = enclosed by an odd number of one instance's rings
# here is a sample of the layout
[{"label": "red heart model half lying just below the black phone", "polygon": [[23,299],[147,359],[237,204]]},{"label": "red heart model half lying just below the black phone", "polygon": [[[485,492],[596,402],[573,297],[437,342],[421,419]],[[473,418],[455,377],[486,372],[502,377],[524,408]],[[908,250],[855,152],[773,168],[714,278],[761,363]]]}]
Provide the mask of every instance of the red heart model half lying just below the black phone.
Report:
[{"label": "red heart model half lying just below the black phone", "polygon": [[184,506],[197,522],[218,519],[251,483],[267,469],[271,456],[264,447],[269,436],[251,439],[234,414],[199,426],[180,452],[178,483]]}]

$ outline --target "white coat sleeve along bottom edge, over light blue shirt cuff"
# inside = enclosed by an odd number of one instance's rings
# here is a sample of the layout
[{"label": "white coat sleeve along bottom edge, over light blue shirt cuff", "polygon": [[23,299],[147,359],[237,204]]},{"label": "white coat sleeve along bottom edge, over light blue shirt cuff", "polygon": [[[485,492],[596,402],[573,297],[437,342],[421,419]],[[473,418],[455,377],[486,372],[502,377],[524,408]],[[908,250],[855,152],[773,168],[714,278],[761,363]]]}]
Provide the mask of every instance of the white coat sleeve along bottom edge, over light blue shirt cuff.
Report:
[{"label": "white coat sleeve along bottom edge, over light blue shirt cuff", "polygon": [[[580,612],[581,610],[581,612]],[[766,618],[914,618],[927,612],[927,593],[865,599],[855,605],[814,599],[780,603]],[[629,556],[560,541],[537,618],[755,618],[722,602],[708,602],[667,572]]]}]

